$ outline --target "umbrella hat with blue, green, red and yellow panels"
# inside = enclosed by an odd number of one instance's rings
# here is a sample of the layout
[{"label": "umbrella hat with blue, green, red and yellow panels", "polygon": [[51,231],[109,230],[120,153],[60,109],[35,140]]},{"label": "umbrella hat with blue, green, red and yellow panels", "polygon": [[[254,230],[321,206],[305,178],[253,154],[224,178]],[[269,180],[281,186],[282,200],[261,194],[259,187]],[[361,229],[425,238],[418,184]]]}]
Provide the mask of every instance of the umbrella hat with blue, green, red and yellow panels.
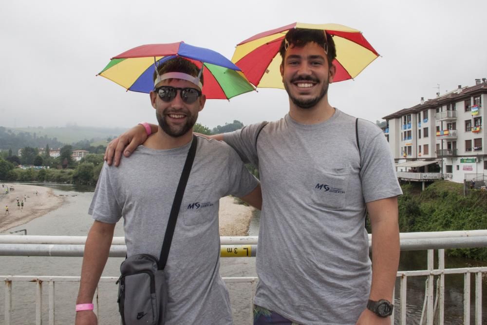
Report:
[{"label": "umbrella hat with blue, green, red and yellow panels", "polygon": [[127,91],[150,93],[154,89],[155,65],[173,57],[184,57],[203,69],[203,94],[208,99],[230,99],[255,88],[239,67],[223,55],[184,42],[141,45],[113,57],[98,74]]}]

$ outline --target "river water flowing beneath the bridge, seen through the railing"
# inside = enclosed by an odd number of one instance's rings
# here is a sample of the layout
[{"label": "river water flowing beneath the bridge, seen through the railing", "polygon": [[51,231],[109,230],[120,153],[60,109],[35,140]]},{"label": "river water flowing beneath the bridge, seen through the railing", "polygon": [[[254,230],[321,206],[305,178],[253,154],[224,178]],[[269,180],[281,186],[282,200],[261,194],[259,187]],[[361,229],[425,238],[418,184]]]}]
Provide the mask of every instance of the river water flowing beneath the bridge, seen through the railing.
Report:
[{"label": "river water flowing beneath the bridge, seen through the railing", "polygon": [[[56,195],[64,195],[65,203],[57,210],[51,211],[22,226],[9,231],[27,229],[29,235],[71,235],[85,236],[92,224],[87,210],[93,196],[93,188],[81,188],[72,185],[52,185]],[[251,223],[250,235],[258,234],[259,213],[255,213]],[[115,236],[123,236],[122,223],[117,224]],[[400,270],[426,269],[426,252],[402,252]],[[118,276],[119,266],[123,258],[109,258],[103,276]],[[64,275],[78,276],[82,259],[79,257],[8,257],[0,256],[0,275]],[[446,258],[447,268],[485,266],[485,262],[465,259]],[[255,258],[222,258],[220,273],[224,277],[257,276]],[[447,275],[445,280],[445,324],[462,324],[463,319],[463,275]],[[424,301],[426,277],[412,277],[408,280],[408,324],[419,324]],[[472,291],[474,291],[472,276]],[[232,313],[235,325],[249,324],[250,293],[248,284],[228,284]],[[487,281],[483,282],[484,297],[487,292]],[[116,286],[101,284],[99,286],[100,310],[99,324],[119,324],[116,306]],[[35,324],[34,283],[15,283],[12,296],[13,324]],[[56,284],[56,324],[73,324],[74,305],[77,284]],[[399,287],[396,282],[396,306],[398,306]],[[483,321],[487,322],[487,299],[483,299]],[[0,288],[0,302],[4,301],[4,290]],[[471,320],[475,319],[474,292],[471,297]],[[3,322],[4,304],[0,304],[0,324]],[[47,287],[43,293],[43,310],[48,310]],[[47,324],[47,312],[44,323]],[[396,312],[398,324],[399,309]]]}]

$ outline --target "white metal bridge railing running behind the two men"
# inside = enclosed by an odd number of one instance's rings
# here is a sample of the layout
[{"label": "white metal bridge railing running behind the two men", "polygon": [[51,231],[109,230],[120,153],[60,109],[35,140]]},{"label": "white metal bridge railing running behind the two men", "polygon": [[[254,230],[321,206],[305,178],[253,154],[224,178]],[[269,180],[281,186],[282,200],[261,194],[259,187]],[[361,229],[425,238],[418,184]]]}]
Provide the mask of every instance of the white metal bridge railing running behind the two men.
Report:
[{"label": "white metal bridge railing running behind the two men", "polygon": [[[82,256],[82,249],[86,237],[74,236],[18,236],[2,235],[0,236],[0,255],[8,256]],[[257,250],[257,237],[221,237],[222,256],[223,251],[227,248],[242,249],[252,247],[255,254]],[[372,238],[369,234],[369,247],[372,244]],[[470,275],[475,276],[475,324],[482,322],[482,275],[487,273],[487,267],[479,268],[445,268],[444,249],[450,248],[476,248],[487,247],[487,230],[463,230],[463,231],[439,231],[439,232],[412,232],[400,234],[401,250],[428,250],[428,267],[426,270],[398,271],[397,277],[399,282],[399,324],[407,323],[407,282],[408,278],[414,276],[427,276],[425,303],[423,307],[422,319],[426,320],[427,325],[433,324],[435,314],[437,315],[438,324],[444,321],[444,302],[445,302],[445,275],[446,274],[464,274],[464,324],[470,324]],[[50,247],[46,249],[46,246]],[[57,248],[56,248],[57,247]],[[438,249],[438,268],[434,268],[434,250]],[[125,256],[125,245],[123,237],[114,237],[110,256]],[[81,251],[81,255],[79,254]],[[231,256],[245,256],[231,255]],[[248,255],[247,255],[248,256]],[[255,256],[255,255],[254,255]],[[438,286],[436,294],[433,291],[434,279],[437,277]],[[102,277],[100,282],[115,282],[118,277]],[[252,300],[255,294],[255,284],[258,281],[256,277],[232,277],[224,278],[225,283],[248,283],[249,291],[249,324],[252,324]],[[12,315],[12,284],[14,282],[29,281],[36,283],[36,324],[42,324],[42,290],[48,285],[48,314],[49,324],[56,324],[56,283],[79,282],[77,276],[10,276],[0,275],[0,281],[5,283],[4,294],[4,324],[11,324]],[[98,288],[95,293],[95,313],[98,314]],[[422,322],[422,321],[421,321]],[[394,315],[391,317],[391,324],[394,323]],[[422,323],[421,323],[422,324]]]}]

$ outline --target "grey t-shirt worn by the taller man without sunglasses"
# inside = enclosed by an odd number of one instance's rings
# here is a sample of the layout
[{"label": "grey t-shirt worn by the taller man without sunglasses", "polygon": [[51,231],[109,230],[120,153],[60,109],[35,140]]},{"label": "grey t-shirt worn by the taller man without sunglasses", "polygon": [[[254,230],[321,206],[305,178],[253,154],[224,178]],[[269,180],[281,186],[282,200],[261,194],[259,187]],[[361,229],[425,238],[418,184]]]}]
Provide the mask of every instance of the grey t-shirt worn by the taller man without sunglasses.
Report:
[{"label": "grey t-shirt worn by the taller man without sunglasses", "polygon": [[299,324],[356,324],[372,272],[365,202],[402,193],[384,134],[359,120],[360,155],[355,121],[339,110],[313,125],[286,115],[224,135],[259,166],[254,302]]}]

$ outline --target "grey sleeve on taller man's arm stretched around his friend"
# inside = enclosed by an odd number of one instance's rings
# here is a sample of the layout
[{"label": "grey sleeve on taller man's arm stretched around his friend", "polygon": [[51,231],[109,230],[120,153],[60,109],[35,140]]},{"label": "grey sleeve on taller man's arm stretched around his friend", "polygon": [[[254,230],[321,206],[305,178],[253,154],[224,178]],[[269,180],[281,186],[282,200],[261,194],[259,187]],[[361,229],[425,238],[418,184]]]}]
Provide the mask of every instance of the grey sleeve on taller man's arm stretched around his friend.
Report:
[{"label": "grey sleeve on taller man's arm stretched around his friend", "polygon": [[239,154],[244,163],[259,166],[256,140],[265,124],[267,122],[250,124],[240,130],[225,133],[223,140]]}]

